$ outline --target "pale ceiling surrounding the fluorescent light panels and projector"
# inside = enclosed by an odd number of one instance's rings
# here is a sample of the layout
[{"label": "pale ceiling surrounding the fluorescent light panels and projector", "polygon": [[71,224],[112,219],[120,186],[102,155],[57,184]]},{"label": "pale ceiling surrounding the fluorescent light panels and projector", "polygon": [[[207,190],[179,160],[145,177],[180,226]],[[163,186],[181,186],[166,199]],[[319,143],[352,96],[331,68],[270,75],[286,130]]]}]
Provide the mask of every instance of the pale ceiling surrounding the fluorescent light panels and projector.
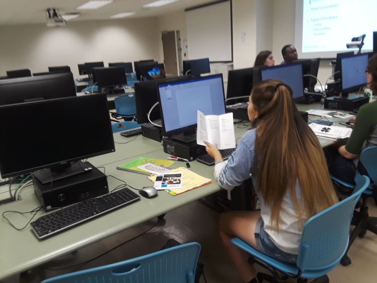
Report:
[{"label": "pale ceiling surrounding the fluorescent light panels and projector", "polygon": [[[113,3],[97,10],[76,10],[88,0],[0,0],[0,25],[36,24],[46,22],[46,9],[57,8],[61,15],[80,12],[73,21],[109,20],[110,16],[136,12],[127,18],[157,17],[185,8],[214,2],[214,0],[180,0],[157,8],[143,8],[155,0],[114,0]],[[69,24],[69,22],[67,23]]]}]

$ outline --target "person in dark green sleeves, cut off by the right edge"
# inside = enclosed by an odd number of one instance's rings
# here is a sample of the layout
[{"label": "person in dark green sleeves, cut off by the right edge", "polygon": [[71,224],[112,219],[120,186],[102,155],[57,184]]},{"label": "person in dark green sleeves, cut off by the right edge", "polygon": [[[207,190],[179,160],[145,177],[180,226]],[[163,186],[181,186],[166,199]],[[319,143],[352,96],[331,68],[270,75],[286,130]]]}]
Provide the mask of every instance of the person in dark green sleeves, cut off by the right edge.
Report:
[{"label": "person in dark green sleeves, cut off by the right edge", "polygon": [[[377,54],[370,57],[365,70],[368,87],[377,93]],[[377,101],[359,108],[354,127],[345,146],[329,149],[331,174],[347,183],[354,184],[358,156],[366,147],[377,146]]]}]

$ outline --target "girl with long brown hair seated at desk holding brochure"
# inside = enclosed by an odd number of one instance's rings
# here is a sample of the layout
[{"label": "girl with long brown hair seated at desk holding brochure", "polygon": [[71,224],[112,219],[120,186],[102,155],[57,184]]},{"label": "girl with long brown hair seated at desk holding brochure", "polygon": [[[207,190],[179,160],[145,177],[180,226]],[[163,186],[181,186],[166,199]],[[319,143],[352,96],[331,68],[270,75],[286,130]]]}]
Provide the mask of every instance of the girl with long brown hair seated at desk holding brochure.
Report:
[{"label": "girl with long brown hair seated at desk holding brochure", "polygon": [[245,282],[257,282],[248,254],[232,245],[240,237],[279,260],[296,262],[303,226],[337,199],[318,138],[301,118],[292,90],[266,80],[251,92],[247,131],[228,162],[206,143],[215,159],[215,179],[227,190],[251,178],[261,211],[229,211],[220,215],[220,238]]}]

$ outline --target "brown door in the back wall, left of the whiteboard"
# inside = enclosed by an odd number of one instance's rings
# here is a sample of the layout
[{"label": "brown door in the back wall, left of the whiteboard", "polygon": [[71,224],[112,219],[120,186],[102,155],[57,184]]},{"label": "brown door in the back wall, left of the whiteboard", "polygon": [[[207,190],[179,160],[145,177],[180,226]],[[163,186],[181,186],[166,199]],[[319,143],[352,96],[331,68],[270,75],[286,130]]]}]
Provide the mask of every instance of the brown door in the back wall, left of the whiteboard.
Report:
[{"label": "brown door in the back wall, left of the whiteboard", "polygon": [[174,31],[162,32],[162,49],[166,76],[178,76],[177,44]]}]

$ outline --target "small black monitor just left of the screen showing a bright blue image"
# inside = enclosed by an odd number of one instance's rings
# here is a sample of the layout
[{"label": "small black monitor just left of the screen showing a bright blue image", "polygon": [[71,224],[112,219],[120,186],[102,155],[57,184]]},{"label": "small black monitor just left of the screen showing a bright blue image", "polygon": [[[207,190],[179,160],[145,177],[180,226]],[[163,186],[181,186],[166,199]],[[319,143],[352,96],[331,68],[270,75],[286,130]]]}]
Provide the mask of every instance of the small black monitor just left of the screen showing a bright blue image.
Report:
[{"label": "small black monitor just left of the screen showing a bright blue image", "polygon": [[93,70],[96,74],[97,85],[100,88],[127,85],[123,67],[94,68]]}]

